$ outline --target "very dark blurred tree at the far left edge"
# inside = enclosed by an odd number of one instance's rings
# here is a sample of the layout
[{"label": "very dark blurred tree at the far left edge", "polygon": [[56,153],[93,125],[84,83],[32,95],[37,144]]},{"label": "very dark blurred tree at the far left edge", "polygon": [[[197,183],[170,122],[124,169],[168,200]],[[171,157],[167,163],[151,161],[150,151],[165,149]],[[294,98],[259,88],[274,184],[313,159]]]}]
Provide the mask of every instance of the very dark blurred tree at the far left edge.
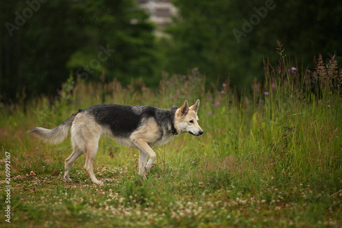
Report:
[{"label": "very dark blurred tree at the far left edge", "polygon": [[67,0],[8,1],[1,9],[1,99],[56,92],[81,41],[77,10]]}]

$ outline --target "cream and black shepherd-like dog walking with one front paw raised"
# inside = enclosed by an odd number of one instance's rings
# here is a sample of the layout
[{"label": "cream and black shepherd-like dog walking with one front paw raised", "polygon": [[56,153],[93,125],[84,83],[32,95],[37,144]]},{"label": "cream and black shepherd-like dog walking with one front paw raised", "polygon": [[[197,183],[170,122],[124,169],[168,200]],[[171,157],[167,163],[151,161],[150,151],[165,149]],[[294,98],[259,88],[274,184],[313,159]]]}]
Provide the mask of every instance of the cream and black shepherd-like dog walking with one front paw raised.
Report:
[{"label": "cream and black shepherd-like dog walking with one front paw raised", "polygon": [[[93,183],[102,185],[93,172],[93,162],[101,136],[109,136],[127,147],[139,149],[139,175],[146,179],[156,154],[151,149],[170,142],[176,135],[186,132],[193,136],[203,134],[198,125],[197,111],[200,100],[189,107],[187,101],[181,107],[173,106],[170,110],[152,106],[129,105],[94,105],[86,110],[79,110],[54,129],[35,127],[27,131],[51,144],[62,142],[71,129],[73,153],[65,160],[64,181],[69,177],[71,166],[84,154],[84,169]],[[149,157],[149,159],[148,159]],[[147,161],[148,160],[148,161]]]}]

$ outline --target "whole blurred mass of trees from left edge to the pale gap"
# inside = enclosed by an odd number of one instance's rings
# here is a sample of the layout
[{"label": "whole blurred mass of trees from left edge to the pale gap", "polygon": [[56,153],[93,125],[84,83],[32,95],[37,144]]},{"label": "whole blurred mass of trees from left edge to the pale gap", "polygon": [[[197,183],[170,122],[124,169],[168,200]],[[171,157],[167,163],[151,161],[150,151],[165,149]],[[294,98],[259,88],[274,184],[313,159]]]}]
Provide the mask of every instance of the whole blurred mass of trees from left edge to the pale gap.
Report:
[{"label": "whole blurred mass of trees from left edge to the pale gap", "polygon": [[[69,71],[97,80],[154,73],[153,25],[133,0],[0,1],[0,100],[55,94]],[[115,51],[114,51],[115,50]]]}]

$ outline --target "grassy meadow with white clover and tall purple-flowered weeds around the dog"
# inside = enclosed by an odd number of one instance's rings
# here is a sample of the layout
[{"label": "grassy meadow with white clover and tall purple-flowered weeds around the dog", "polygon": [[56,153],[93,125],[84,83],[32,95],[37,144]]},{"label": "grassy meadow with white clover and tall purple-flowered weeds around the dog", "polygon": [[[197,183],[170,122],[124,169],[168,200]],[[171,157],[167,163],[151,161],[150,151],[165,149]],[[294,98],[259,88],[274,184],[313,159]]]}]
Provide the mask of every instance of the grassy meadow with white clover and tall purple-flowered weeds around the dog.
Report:
[{"label": "grassy meadow with white clover and tall purple-flowered weeds around the dog", "polygon": [[[254,82],[252,95],[236,94],[228,80],[205,86],[196,69],[164,73],[159,90],[140,81],[70,79],[55,99],[3,105],[0,227],[341,227],[342,75],[333,61],[318,60],[316,72],[282,57],[275,66],[265,62],[265,80]],[[65,183],[70,139],[49,145],[26,134],[98,103],[169,109],[185,99],[200,99],[205,133],[155,147],[146,180],[137,175],[136,149],[101,138],[94,173],[104,185],[91,183],[83,156],[71,168],[73,183]]]}]

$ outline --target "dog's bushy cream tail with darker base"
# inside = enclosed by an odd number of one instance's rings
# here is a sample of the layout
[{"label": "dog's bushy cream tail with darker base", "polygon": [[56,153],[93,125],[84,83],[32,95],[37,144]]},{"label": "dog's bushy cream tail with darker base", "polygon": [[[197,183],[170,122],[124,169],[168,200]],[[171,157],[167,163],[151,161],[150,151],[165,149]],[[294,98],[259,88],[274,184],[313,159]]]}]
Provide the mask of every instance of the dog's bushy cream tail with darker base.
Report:
[{"label": "dog's bushy cream tail with darker base", "polygon": [[75,116],[78,114],[73,114],[70,118],[68,118],[66,121],[58,125],[57,127],[53,129],[46,129],[43,127],[35,127],[33,129],[30,129],[27,131],[27,133],[31,133],[34,136],[37,136],[44,142],[48,142],[50,144],[58,144],[60,142],[63,142],[66,137],[68,136],[68,133],[70,131],[71,125],[73,125],[73,121],[75,119]]}]

